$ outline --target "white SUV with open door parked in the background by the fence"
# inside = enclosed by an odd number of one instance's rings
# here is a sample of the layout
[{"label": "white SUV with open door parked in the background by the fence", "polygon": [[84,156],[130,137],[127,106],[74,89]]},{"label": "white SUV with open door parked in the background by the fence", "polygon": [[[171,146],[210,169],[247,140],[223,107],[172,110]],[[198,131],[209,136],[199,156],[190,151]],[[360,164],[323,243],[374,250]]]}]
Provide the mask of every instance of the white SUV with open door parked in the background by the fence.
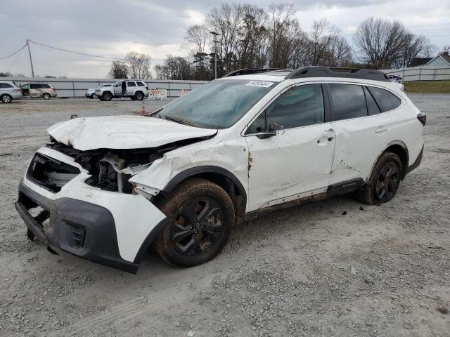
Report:
[{"label": "white SUV with open door parked in the background by the fence", "polygon": [[99,100],[129,97],[131,100],[143,100],[148,96],[148,86],[144,81],[126,79],[117,81],[113,86],[99,86],[95,91]]}]

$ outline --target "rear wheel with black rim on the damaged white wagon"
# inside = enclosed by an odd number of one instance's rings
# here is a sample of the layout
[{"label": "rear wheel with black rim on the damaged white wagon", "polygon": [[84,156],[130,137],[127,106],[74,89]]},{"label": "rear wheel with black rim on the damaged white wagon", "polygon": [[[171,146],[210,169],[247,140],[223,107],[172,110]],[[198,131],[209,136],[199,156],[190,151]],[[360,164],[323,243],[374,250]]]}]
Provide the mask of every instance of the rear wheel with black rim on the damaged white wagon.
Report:
[{"label": "rear wheel with black rim on the damaged white wagon", "polygon": [[373,167],[364,189],[356,192],[356,199],[368,205],[390,201],[399,189],[402,169],[403,165],[397,154],[384,152]]}]

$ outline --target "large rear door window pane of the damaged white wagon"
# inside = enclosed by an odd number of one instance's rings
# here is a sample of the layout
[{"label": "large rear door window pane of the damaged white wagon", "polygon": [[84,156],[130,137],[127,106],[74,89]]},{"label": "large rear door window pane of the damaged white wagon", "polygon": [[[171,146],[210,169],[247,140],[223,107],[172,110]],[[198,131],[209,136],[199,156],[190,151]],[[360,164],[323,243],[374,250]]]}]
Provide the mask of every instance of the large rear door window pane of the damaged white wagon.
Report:
[{"label": "large rear door window pane of the damaged white wagon", "polygon": [[333,121],[367,116],[366,98],[362,86],[329,84],[329,88]]}]

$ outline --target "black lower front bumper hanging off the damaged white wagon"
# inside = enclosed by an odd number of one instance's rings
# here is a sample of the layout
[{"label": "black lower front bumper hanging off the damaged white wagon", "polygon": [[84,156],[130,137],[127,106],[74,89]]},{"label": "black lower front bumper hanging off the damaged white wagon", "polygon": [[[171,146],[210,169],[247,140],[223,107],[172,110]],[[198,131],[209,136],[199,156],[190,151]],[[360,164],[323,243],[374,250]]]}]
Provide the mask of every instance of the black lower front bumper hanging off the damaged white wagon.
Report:
[{"label": "black lower front bumper hanging off the damaged white wagon", "polygon": [[[30,209],[37,206],[42,211],[32,216]],[[108,209],[77,199],[51,200],[22,182],[15,209],[28,227],[29,237],[49,249],[61,249],[101,265],[137,272],[139,262],[131,263],[120,257],[114,218]]]}]

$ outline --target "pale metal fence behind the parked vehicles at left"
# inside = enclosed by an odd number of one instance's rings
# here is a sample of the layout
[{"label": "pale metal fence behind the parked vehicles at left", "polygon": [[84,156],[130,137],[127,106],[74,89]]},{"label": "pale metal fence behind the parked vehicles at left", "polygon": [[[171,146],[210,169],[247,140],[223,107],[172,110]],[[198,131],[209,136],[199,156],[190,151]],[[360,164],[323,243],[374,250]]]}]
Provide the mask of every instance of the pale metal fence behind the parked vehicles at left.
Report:
[{"label": "pale metal fence behind the parked vehicles at left", "polygon": [[[50,83],[55,86],[58,97],[84,97],[88,88],[96,88],[102,84],[113,84],[120,79],[46,79],[32,77],[0,77],[0,80],[14,81],[18,86],[25,83]],[[207,81],[172,81],[149,79],[145,81],[148,88],[167,89],[168,97],[179,97],[184,90],[192,90]]]}]

